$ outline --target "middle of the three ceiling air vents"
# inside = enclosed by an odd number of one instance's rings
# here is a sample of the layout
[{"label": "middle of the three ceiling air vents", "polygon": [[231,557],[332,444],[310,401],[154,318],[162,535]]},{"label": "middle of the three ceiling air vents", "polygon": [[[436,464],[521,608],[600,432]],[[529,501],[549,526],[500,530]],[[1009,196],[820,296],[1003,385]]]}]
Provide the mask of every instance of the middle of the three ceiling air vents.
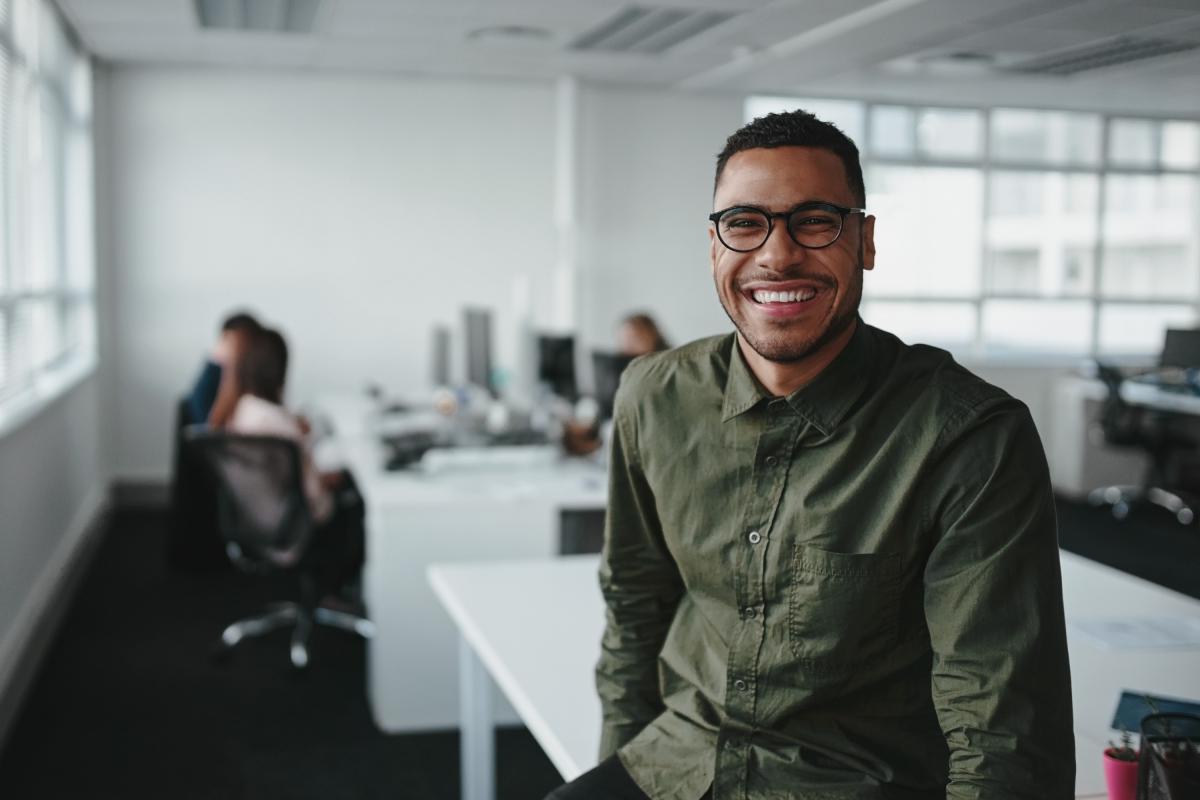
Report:
[{"label": "middle of the three ceiling air vents", "polygon": [[584,52],[659,54],[736,16],[727,11],[628,6],[576,38],[569,47]]}]

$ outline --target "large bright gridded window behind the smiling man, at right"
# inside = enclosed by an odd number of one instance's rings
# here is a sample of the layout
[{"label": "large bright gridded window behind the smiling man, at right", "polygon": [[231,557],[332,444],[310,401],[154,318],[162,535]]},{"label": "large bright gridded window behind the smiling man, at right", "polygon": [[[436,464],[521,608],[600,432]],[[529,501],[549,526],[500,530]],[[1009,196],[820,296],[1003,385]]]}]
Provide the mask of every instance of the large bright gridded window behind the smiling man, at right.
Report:
[{"label": "large bright gridded window behind the smiling man, at right", "polygon": [[860,148],[869,321],[1037,357],[1157,354],[1200,321],[1200,122],[784,97],[746,116],[793,108]]}]

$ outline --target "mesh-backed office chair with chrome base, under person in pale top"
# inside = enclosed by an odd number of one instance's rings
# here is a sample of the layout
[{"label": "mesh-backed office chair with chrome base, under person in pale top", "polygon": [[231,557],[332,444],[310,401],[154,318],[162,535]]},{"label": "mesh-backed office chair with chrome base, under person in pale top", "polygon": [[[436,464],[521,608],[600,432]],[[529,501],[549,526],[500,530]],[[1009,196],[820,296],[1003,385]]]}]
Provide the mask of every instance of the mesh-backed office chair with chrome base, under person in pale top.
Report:
[{"label": "mesh-backed office chair with chrome base, under person in pale top", "polygon": [[317,525],[304,492],[296,443],[277,437],[191,429],[187,445],[216,476],[218,528],[229,560],[248,573],[294,573],[300,584],[299,602],[274,604],[266,613],[226,627],[220,652],[227,652],[246,637],[294,626],[289,652],[292,664],[302,669],[308,664],[313,624],[371,638],[374,625],[370,620],[317,604],[317,565],[306,558]]}]

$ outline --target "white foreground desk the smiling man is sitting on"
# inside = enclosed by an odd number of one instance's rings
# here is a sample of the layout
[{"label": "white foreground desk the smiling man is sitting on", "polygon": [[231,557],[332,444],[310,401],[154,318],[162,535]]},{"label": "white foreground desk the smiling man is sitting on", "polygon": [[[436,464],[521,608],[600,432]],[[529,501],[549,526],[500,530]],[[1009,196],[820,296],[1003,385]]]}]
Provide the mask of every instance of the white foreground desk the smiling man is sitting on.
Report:
[{"label": "white foreground desk the smiling man is sitting on", "polygon": [[[1200,616],[1200,601],[1062,554],[1068,622],[1086,618]],[[428,570],[461,634],[463,798],[492,800],[493,680],[551,762],[571,780],[595,765],[604,601],[595,557]],[[527,620],[535,620],[527,624]],[[1079,798],[1104,796],[1102,752],[1122,688],[1200,698],[1200,649],[1104,651],[1068,626]]]}]

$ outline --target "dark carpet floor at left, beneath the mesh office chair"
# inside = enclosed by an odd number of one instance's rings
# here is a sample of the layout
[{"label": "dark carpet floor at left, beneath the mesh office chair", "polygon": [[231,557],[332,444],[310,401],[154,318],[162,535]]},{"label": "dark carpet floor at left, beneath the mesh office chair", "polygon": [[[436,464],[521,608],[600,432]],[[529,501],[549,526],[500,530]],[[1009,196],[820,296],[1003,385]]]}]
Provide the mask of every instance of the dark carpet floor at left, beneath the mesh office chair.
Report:
[{"label": "dark carpet floor at left, beneath the mesh office chair", "polygon": [[[287,595],[168,572],[164,524],[114,517],[0,753],[0,798],[458,799],[457,734],[380,734],[355,637],[317,628],[302,676],[283,631],[215,663],[224,625]],[[558,783],[528,732],[499,732],[499,800]]]}]

